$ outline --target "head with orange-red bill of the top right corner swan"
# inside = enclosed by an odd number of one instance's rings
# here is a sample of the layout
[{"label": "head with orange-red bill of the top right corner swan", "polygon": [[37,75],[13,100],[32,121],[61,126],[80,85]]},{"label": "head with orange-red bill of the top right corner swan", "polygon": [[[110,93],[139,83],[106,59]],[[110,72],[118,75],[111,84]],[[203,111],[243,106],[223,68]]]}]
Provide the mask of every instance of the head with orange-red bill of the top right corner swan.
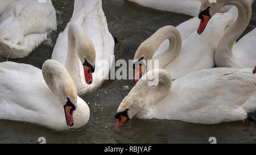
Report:
[{"label": "head with orange-red bill of the top right corner swan", "polygon": [[225,3],[221,0],[216,0],[216,2],[211,2],[210,0],[203,0],[198,16],[199,19],[201,19],[200,26],[197,30],[197,33],[199,33],[199,35],[204,32],[210,18],[212,18],[212,16],[224,6]]}]

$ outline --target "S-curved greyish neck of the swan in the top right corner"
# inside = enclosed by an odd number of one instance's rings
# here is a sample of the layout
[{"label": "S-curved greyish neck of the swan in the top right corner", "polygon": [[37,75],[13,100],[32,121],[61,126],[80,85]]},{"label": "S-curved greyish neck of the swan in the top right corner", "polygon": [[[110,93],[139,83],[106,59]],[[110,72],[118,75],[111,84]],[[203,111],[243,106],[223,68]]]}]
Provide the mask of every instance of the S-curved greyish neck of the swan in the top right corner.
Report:
[{"label": "S-curved greyish neck of the swan in the top right corner", "polygon": [[[238,17],[232,27],[221,38],[216,50],[216,57],[225,59],[232,56],[232,47],[238,37],[245,31],[251,19],[251,3],[249,0],[218,0],[224,6],[234,5],[238,9]],[[218,56],[221,55],[221,56]]]}]

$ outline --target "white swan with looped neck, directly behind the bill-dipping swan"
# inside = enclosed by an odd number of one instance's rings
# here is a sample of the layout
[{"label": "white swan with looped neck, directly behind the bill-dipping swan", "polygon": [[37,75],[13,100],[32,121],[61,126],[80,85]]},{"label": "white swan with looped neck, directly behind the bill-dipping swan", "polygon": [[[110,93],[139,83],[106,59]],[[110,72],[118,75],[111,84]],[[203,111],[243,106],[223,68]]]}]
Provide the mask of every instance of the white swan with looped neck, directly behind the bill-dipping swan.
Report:
[{"label": "white swan with looped neck, directly behind the bill-dipping swan", "polygon": [[139,66],[141,63],[138,60],[159,60],[159,68],[166,69],[174,79],[197,70],[212,68],[214,51],[226,28],[233,22],[234,15],[229,12],[218,13],[213,18],[210,28],[203,36],[197,34],[198,24],[195,22],[199,22],[199,19],[192,18],[176,28],[162,27],[143,41],[134,55],[134,82],[146,71],[145,66]]}]

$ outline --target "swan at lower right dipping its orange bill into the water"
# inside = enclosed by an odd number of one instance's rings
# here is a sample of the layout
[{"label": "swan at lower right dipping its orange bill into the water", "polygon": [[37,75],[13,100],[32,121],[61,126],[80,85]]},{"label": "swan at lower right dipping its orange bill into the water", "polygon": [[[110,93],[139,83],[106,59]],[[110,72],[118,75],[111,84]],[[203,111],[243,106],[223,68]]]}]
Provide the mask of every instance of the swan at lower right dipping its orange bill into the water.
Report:
[{"label": "swan at lower right dipping its orange bill into the water", "polygon": [[[151,76],[159,79],[154,86],[148,83]],[[249,118],[256,123],[255,101],[256,77],[250,68],[204,69],[174,82],[166,70],[155,69],[145,74],[122,100],[115,114],[115,127],[134,117],[202,124]]]}]

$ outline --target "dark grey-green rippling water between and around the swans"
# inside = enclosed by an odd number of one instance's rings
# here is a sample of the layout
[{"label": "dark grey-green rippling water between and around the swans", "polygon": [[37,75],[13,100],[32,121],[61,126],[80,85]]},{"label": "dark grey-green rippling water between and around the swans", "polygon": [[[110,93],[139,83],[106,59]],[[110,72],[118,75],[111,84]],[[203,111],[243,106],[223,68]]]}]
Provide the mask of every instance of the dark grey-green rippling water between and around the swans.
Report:
[{"label": "dark grey-green rippling water between and around the swans", "polygon": [[[72,16],[73,0],[52,0],[57,12],[57,33],[64,30]],[[110,32],[118,37],[116,59],[133,59],[139,44],[158,28],[177,26],[191,18],[188,15],[158,11],[124,0],[103,0]],[[256,27],[256,3],[246,32]],[[9,60],[41,68],[51,58],[53,47],[40,45],[30,56]],[[1,58],[1,61],[5,61]],[[124,89],[123,86],[129,86]],[[122,99],[134,86],[133,81],[111,80],[83,98],[90,107],[90,120],[85,127],[73,131],[55,132],[23,122],[0,120],[0,143],[38,143],[38,137],[46,137],[47,143],[209,143],[216,137],[217,143],[255,143],[256,128],[245,122],[202,125],[175,120],[131,119],[125,128],[114,129],[114,114]]]}]

